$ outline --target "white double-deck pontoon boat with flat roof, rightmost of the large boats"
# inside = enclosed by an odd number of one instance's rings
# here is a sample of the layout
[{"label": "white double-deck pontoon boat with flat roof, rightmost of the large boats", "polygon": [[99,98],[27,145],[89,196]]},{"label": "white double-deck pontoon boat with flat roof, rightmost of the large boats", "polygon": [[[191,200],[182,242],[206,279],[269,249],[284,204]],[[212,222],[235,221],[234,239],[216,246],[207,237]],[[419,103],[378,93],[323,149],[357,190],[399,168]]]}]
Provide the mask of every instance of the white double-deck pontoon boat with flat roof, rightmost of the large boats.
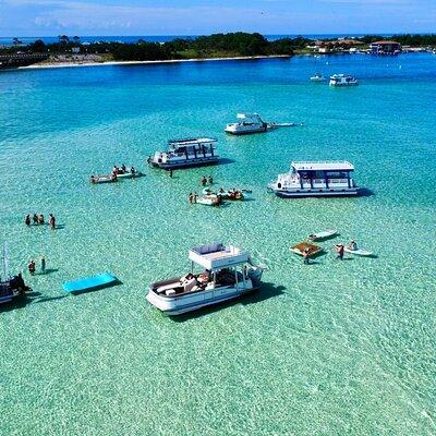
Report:
[{"label": "white double-deck pontoon boat with flat roof, rightmost of the large boats", "polygon": [[355,196],[361,189],[352,179],[354,166],[348,161],[292,162],[288,173],[268,185],[279,197]]}]

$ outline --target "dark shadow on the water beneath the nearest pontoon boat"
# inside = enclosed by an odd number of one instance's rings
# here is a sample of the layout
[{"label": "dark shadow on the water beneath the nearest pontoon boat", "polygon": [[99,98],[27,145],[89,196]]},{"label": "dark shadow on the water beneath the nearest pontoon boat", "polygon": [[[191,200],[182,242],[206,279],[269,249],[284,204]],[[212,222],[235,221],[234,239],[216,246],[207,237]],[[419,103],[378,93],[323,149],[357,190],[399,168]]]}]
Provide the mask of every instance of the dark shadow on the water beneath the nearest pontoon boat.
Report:
[{"label": "dark shadow on the water beneath the nearest pontoon boat", "polygon": [[237,299],[228,300],[222,303],[217,303],[211,306],[202,307],[202,308],[198,308],[196,311],[189,312],[185,314],[173,315],[173,316],[170,316],[170,318],[171,318],[171,320],[174,320],[177,323],[184,323],[190,319],[195,319],[195,318],[199,318],[202,316],[213,314],[215,312],[221,311],[226,307],[233,306],[235,304],[249,305],[249,304],[261,303],[261,302],[271,299],[274,296],[281,295],[282,293],[284,293],[283,292],[284,290],[286,290],[286,288],[283,286],[280,286],[280,284],[276,286],[274,283],[263,282],[261,284],[259,289],[249,292]]}]

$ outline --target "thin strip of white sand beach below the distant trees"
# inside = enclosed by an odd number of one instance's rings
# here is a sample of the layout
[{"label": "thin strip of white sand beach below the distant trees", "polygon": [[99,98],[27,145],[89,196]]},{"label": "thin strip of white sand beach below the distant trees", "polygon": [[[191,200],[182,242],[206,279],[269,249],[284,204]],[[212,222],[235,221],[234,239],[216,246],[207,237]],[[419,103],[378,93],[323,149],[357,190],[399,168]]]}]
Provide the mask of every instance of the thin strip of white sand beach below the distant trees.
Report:
[{"label": "thin strip of white sand beach below the distant trees", "polygon": [[55,68],[77,68],[77,66],[106,66],[106,65],[153,65],[161,63],[181,63],[181,62],[208,62],[208,61],[244,61],[256,59],[289,59],[292,55],[270,55],[270,56],[238,56],[228,58],[204,58],[204,59],[167,59],[158,61],[107,61],[107,62],[59,62],[47,64],[32,64],[19,66],[17,70],[43,70]]}]

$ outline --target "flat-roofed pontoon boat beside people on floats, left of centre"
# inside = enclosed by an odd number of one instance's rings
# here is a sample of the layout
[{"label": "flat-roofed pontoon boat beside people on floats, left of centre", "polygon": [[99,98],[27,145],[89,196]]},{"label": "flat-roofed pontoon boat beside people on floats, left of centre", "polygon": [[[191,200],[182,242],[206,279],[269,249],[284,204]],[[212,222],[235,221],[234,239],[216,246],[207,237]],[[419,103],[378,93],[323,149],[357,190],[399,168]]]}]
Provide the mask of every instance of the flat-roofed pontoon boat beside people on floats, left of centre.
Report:
[{"label": "flat-roofed pontoon boat beside people on floats, left of centre", "polygon": [[168,152],[156,152],[147,162],[166,170],[218,164],[216,143],[217,140],[211,137],[171,140],[168,142]]}]

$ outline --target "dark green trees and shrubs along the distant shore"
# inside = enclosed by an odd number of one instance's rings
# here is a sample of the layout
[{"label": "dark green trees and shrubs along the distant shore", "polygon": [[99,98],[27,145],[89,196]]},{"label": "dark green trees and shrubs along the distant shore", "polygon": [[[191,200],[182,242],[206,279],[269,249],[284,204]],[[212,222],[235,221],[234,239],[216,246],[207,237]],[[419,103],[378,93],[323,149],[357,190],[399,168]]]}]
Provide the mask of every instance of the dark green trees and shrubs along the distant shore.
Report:
[{"label": "dark green trees and shrubs along the distant shore", "polygon": [[[367,47],[376,40],[393,39],[403,46],[429,47],[436,46],[436,35],[393,35],[382,37],[366,35],[353,39],[324,39],[320,45],[329,47],[330,51],[343,51],[355,45]],[[319,43],[318,43],[319,45]],[[292,56],[294,53],[313,52],[314,40],[299,36],[269,41],[258,33],[243,32],[215,34],[196,38],[177,38],[172,41],[158,44],[140,39],[134,44],[92,43],[83,44],[80,37],[72,38],[60,35],[55,44],[36,40],[23,46],[14,38],[10,47],[0,47],[0,53],[48,53],[48,62],[106,62],[116,61],[159,61],[178,59],[235,58],[255,56]]]}]

